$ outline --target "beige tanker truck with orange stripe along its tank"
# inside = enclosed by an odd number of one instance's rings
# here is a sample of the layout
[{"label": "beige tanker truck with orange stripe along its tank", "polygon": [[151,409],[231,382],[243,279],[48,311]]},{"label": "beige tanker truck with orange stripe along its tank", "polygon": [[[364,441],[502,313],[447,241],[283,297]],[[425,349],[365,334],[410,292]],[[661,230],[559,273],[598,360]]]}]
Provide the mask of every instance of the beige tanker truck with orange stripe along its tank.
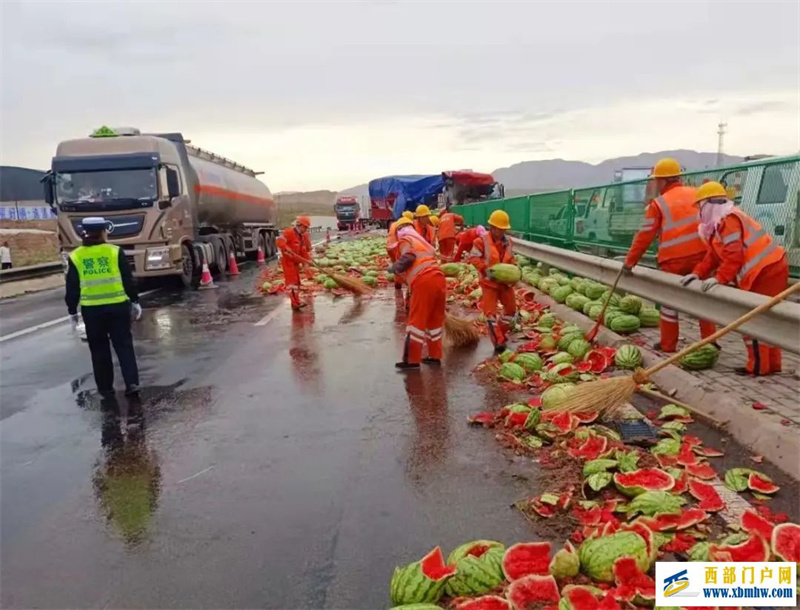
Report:
[{"label": "beige tanker truck with orange stripe along its tank", "polygon": [[196,286],[203,263],[227,270],[231,253],[276,253],[277,206],[255,172],[192,146],[180,133],[102,127],[61,142],[46,174],[62,256],[81,244],[87,216],[109,221],[137,278],[174,277]]}]

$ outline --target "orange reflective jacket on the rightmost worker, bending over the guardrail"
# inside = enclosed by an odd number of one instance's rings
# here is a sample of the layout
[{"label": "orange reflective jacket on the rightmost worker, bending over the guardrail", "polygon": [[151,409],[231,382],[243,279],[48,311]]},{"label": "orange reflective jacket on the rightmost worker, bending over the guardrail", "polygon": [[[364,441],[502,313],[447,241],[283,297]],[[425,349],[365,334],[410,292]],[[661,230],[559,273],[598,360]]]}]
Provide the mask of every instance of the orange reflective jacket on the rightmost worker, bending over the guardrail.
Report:
[{"label": "orange reflective jacket on the rightmost worker, bending over the guardrail", "polygon": [[742,290],[749,290],[761,271],[784,256],[784,249],[758,222],[734,208],[714,232],[706,257],[695,267],[694,273],[705,279],[716,272],[720,284],[735,283]]}]

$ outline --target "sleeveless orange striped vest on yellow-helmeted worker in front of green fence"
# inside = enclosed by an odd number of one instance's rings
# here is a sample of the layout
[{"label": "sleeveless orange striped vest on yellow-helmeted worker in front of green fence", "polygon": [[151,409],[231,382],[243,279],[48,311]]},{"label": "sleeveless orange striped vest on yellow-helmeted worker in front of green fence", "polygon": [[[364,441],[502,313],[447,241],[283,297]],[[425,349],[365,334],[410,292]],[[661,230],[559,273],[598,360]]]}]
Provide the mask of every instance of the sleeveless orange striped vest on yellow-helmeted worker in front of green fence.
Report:
[{"label": "sleeveless orange striped vest on yellow-helmeted worker in front of green fence", "polygon": [[[653,202],[661,213],[658,237],[658,262],[696,256],[706,251],[697,233],[699,214],[691,186],[678,186],[659,195]],[[647,219],[645,219],[645,223]],[[644,230],[652,227],[643,225]]]}]

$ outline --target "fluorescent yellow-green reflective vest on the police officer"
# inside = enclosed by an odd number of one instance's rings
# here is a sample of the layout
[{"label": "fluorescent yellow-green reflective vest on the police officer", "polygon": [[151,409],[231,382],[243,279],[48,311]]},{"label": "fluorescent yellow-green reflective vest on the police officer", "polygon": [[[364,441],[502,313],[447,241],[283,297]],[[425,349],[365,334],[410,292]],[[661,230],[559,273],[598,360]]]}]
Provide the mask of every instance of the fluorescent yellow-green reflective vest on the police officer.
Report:
[{"label": "fluorescent yellow-green reflective vest on the police officer", "polygon": [[119,246],[81,246],[69,255],[81,281],[81,307],[128,300],[119,270]]}]

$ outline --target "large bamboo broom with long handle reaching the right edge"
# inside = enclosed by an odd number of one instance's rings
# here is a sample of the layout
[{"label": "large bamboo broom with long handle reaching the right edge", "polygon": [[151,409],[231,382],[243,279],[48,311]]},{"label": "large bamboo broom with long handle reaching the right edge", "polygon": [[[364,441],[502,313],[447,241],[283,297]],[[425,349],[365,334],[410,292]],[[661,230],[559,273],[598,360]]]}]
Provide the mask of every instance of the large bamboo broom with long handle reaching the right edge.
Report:
[{"label": "large bamboo broom with long handle reaching the right edge", "polygon": [[790,294],[800,290],[800,283],[794,284],[772,297],[766,303],[762,303],[755,309],[748,311],[742,317],[734,320],[724,328],[721,328],[713,335],[709,335],[705,339],[692,343],[690,346],[682,349],[677,354],[673,354],[666,360],[662,360],[658,364],[651,366],[648,369],[636,369],[633,375],[628,377],[611,377],[609,379],[600,379],[598,381],[590,381],[579,385],[564,402],[554,406],[550,411],[558,411],[561,413],[581,413],[584,411],[598,412],[600,414],[606,412],[613,412],[619,409],[623,404],[630,402],[633,393],[636,391],[638,384],[647,383],[650,377],[670,364],[673,364],[692,353],[696,349],[704,345],[713,343],[720,337],[727,335],[729,332],[736,330],[742,324],[755,318],[757,315],[764,313],[783,301]]}]

